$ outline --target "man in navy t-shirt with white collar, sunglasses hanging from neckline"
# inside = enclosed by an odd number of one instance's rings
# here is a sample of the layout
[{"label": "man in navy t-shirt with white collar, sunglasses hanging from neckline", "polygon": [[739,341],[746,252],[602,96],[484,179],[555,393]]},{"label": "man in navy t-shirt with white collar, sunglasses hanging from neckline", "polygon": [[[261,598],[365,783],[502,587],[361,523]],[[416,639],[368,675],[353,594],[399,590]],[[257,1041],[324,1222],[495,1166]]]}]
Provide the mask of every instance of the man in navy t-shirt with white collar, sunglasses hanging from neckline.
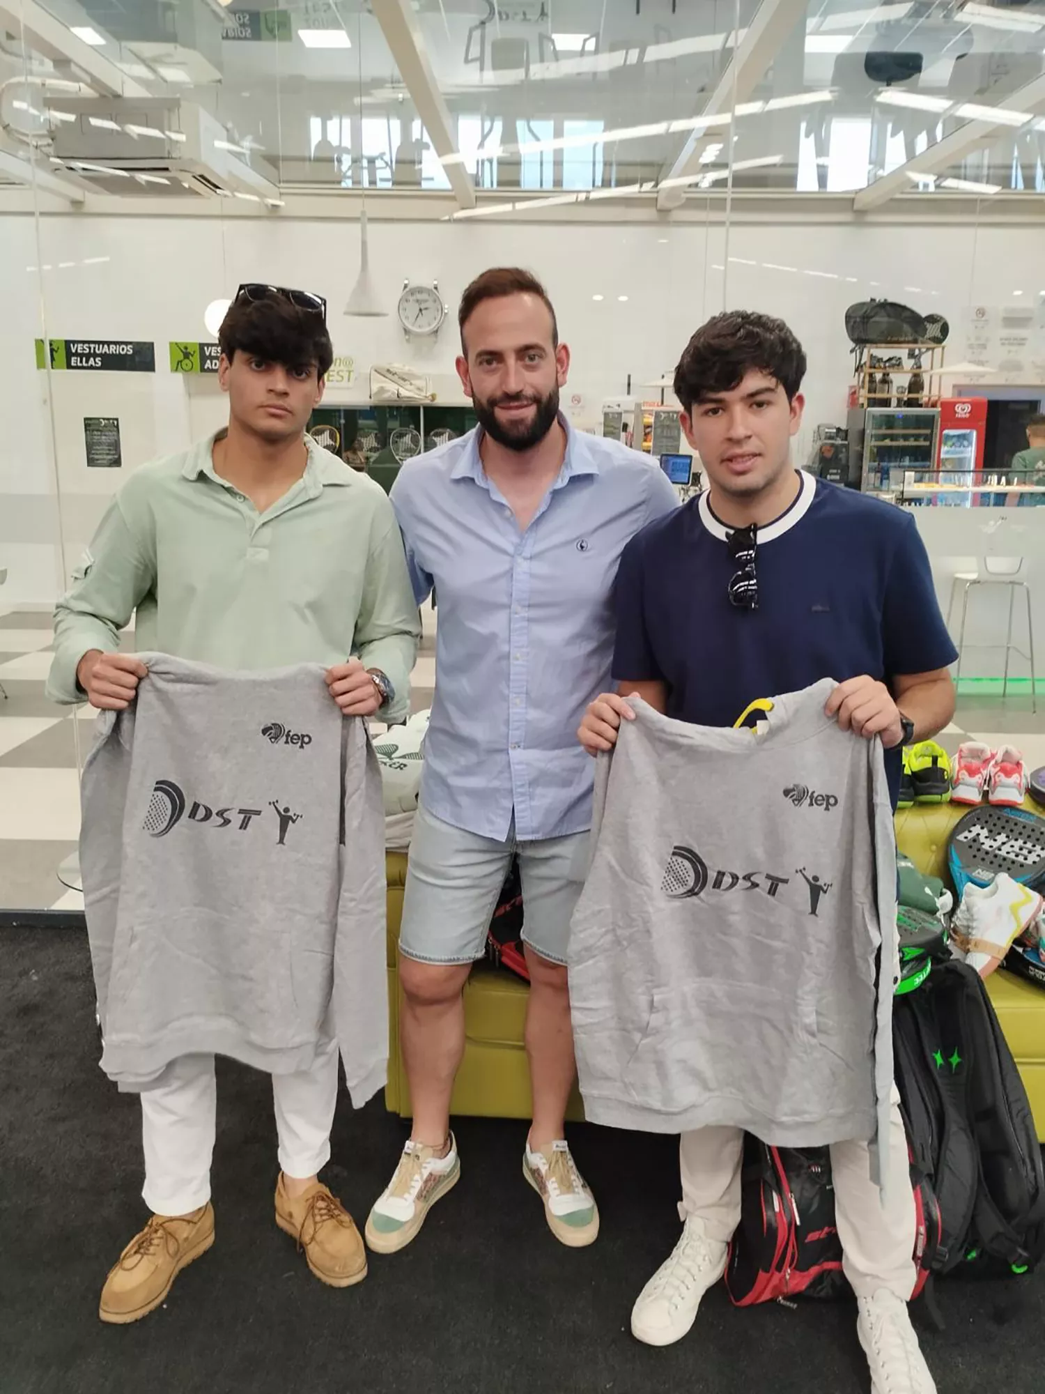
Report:
[{"label": "man in navy t-shirt with white collar, sunglasses hanging from neckline", "polygon": [[[881,736],[895,803],[903,744],[953,715],[947,665],[957,655],[911,514],[791,466],[804,374],[801,344],[765,315],[716,315],[690,340],[674,390],[708,488],[624,549],[619,687],[588,707],[578,735],[592,754],[609,750],[634,715],[631,693],[679,721],[732,726],[759,697],[835,677],[828,714]],[[723,1273],[740,1218],[741,1149],[733,1128],[681,1138],[686,1227],[631,1315],[633,1333],[651,1345],[680,1340]],[[906,1172],[896,1097],[888,1153]],[[897,1175],[883,1209],[865,1142],[833,1146],[832,1171],[872,1388],[932,1394],[906,1306],[915,1277],[910,1186]]]}]

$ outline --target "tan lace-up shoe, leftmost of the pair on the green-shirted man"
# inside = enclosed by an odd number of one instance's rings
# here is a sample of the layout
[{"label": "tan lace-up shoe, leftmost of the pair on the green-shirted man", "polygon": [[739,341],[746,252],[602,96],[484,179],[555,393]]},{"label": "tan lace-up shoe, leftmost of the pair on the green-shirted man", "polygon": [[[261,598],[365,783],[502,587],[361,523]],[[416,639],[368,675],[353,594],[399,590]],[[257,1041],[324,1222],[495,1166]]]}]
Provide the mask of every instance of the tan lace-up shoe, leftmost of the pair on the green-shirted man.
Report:
[{"label": "tan lace-up shoe, leftmost of the pair on the green-shirted man", "polygon": [[109,1270],[98,1315],[125,1326],[155,1310],[174,1278],[215,1242],[215,1211],[208,1202],[188,1216],[153,1216]]}]

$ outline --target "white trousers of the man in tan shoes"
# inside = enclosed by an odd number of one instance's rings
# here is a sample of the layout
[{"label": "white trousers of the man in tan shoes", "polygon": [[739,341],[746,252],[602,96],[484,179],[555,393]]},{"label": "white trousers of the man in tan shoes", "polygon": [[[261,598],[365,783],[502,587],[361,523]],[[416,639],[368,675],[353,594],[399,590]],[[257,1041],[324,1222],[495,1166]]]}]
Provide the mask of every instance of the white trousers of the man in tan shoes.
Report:
[{"label": "white trousers of the man in tan shoes", "polygon": [[[279,1164],[287,1177],[314,1177],[330,1160],[337,1103],[337,1044],[309,1069],[273,1075]],[[210,1199],[217,1082],[213,1055],[181,1055],[160,1083],[142,1092],[142,1199],[153,1214],[184,1216]]]}]

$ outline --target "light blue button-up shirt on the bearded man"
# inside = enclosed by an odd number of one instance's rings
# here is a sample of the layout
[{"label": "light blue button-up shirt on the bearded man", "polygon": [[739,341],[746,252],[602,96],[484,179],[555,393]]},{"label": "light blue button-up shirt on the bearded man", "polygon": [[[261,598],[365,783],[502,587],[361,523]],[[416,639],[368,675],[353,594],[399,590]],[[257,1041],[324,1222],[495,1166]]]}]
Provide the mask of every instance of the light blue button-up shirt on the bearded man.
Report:
[{"label": "light blue button-up shirt on the bearded man", "polygon": [[584,708],[610,682],[620,553],[676,507],[634,450],[570,428],[566,459],[520,531],[479,459],[481,432],[408,461],[392,489],[418,604],[438,597],[436,691],[421,799],[436,818],[506,841],[591,827]]}]

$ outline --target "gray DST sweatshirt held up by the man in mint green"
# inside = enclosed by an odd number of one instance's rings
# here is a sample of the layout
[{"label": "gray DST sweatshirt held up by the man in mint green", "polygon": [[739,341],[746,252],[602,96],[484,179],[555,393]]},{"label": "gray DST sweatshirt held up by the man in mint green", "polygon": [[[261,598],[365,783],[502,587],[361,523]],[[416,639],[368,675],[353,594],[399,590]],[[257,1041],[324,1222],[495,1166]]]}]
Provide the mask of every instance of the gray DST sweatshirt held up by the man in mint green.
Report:
[{"label": "gray DST sweatshirt held up by the man in mint green", "polygon": [[121,1089],[180,1055],[269,1073],[337,1039],[353,1103],[386,1078],[385,815],[365,723],[323,669],[142,655],[98,718],[79,839],[104,1050]]}]

